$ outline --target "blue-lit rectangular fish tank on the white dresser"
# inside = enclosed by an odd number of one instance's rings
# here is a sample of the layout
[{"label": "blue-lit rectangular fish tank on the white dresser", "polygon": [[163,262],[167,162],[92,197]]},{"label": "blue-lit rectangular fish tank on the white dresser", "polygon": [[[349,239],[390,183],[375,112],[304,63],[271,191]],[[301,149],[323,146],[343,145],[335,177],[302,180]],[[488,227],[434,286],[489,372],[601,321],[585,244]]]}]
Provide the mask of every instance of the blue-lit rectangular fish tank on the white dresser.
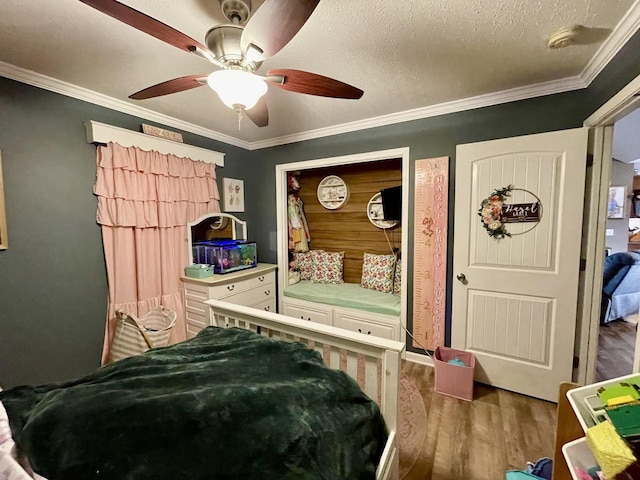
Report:
[{"label": "blue-lit rectangular fish tank on the white dresser", "polygon": [[258,264],[256,242],[205,240],[192,245],[193,263],[211,265],[214,273],[230,273]]}]

